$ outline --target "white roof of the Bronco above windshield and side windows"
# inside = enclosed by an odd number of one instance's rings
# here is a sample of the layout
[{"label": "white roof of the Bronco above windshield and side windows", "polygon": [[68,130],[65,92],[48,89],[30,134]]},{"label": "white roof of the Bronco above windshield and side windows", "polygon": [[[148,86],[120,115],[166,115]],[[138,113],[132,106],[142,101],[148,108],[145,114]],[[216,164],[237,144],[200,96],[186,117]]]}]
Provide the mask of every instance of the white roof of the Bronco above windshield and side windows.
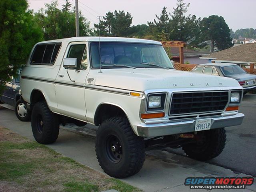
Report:
[{"label": "white roof of the Bronco above windshield and side windows", "polygon": [[64,39],[56,39],[43,41],[40,43],[50,43],[50,42],[74,42],[74,41],[114,41],[114,42],[135,42],[135,43],[150,43],[150,44],[159,44],[162,45],[161,42],[146,40],[146,39],[136,39],[136,38],[123,38],[123,37],[71,37]]}]

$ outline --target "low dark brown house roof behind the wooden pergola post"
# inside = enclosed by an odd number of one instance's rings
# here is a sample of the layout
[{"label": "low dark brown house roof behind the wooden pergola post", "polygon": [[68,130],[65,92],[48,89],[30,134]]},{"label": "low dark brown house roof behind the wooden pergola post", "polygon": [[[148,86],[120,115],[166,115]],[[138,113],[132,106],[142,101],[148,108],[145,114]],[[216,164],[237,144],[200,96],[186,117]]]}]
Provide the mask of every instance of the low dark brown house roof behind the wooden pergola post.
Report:
[{"label": "low dark brown house roof behind the wooden pergola post", "polygon": [[[183,52],[184,52],[184,58],[200,57],[200,56],[207,55],[207,54],[210,53],[208,51],[195,51],[195,50],[188,49],[188,48],[184,48]],[[180,57],[180,49],[178,47],[171,47],[170,48],[170,53],[171,53],[173,58],[179,58]]]}]

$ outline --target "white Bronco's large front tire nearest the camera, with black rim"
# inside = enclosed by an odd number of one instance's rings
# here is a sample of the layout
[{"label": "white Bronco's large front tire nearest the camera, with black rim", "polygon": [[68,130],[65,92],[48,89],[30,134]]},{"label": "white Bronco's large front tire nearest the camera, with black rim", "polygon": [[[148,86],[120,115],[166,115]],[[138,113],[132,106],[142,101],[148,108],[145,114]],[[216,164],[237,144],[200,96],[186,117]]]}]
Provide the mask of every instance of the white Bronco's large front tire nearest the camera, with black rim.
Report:
[{"label": "white Bronco's large front tire nearest the camera, with black rim", "polygon": [[145,160],[144,139],[134,134],[123,117],[112,117],[100,124],[95,148],[101,168],[115,178],[138,173]]}]

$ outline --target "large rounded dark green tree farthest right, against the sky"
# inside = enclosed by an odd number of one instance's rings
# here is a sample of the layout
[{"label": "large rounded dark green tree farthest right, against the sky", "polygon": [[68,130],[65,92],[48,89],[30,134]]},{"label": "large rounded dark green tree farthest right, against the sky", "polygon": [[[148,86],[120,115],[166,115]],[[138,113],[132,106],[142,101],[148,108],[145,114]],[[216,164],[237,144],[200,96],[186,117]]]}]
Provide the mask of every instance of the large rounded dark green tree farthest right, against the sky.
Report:
[{"label": "large rounded dark green tree farthest right, against the sky", "polygon": [[222,16],[211,15],[202,19],[201,30],[203,40],[211,41],[211,51],[214,47],[224,50],[233,46],[230,38],[230,29]]}]

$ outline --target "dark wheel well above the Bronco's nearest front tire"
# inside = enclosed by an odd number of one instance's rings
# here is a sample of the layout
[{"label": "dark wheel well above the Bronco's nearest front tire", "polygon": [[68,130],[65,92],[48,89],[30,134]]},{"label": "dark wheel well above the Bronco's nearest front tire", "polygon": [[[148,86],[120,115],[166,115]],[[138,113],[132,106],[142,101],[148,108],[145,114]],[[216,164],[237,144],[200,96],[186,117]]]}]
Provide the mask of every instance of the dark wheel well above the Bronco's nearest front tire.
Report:
[{"label": "dark wheel well above the Bronco's nearest front tire", "polygon": [[101,104],[100,106],[98,106],[95,112],[94,124],[98,126],[104,120],[114,116],[122,116],[127,118],[126,114],[120,107],[112,104]]}]

